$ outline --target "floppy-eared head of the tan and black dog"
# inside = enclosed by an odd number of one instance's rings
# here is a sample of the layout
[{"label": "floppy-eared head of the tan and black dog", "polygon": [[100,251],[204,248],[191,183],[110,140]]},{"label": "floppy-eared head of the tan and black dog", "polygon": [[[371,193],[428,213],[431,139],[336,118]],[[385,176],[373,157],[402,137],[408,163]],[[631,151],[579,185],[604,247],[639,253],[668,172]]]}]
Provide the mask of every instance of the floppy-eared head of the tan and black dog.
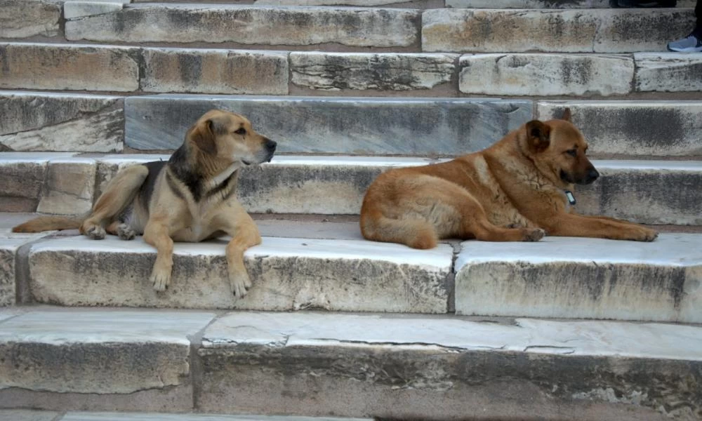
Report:
[{"label": "floppy-eared head of the tan and black dog", "polygon": [[185,139],[207,156],[232,164],[269,162],[276,147],[276,142],[253,130],[249,119],[219,109],[201,116],[187,131]]}]

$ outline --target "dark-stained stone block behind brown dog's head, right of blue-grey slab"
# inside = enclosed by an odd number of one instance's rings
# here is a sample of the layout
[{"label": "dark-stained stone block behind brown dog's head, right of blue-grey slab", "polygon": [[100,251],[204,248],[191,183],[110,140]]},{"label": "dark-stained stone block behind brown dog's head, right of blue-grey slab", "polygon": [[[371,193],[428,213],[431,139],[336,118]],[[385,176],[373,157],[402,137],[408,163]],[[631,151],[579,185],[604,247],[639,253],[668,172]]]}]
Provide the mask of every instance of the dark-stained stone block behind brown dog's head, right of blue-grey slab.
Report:
[{"label": "dark-stained stone block behind brown dog's head, right of blue-grey slab", "polygon": [[702,155],[700,101],[542,101],[536,114],[559,118],[566,107],[590,144],[589,154]]}]

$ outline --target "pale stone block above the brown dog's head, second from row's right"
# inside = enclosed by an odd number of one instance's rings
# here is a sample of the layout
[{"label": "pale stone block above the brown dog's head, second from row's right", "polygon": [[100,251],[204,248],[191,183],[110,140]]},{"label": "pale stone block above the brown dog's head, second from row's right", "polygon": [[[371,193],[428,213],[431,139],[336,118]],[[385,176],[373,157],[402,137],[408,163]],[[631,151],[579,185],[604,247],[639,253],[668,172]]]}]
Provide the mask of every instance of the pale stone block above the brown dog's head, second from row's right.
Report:
[{"label": "pale stone block above the brown dog's head, second from row's right", "polygon": [[463,55],[458,88],[482,95],[624,95],[634,62],[625,55]]}]

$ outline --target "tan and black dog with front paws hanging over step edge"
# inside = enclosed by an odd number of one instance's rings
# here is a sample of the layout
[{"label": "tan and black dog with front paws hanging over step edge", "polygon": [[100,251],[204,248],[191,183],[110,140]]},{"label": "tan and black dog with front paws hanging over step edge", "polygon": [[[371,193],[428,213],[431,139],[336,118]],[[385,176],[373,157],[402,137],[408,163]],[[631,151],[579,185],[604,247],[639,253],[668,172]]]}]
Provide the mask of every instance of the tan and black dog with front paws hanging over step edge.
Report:
[{"label": "tan and black dog with front paws hanging over step edge", "polygon": [[119,171],[85,217],[40,217],[13,228],[40,232],[79,228],[91,239],[105,232],[131,240],[143,234],[157,249],[151,274],[155,290],[171,281],[173,241],[197,242],[231,235],[227,267],[232,292],[251,287],[244,251],[260,244],[258,227],[236,198],[239,168],[270,161],[276,142],[256,133],[244,116],[212,110],[187,131],[168,161]]}]

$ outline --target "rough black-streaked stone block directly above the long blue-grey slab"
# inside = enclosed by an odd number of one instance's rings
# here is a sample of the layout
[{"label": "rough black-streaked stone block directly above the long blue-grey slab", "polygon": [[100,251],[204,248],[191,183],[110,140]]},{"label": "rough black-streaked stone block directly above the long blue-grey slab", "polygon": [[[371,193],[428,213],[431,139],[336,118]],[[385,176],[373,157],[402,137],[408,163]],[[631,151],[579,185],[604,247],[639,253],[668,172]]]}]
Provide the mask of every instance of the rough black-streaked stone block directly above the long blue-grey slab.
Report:
[{"label": "rough black-streaked stone block directly above the long blue-grey slab", "polygon": [[291,81],[322,91],[411,91],[451,82],[456,54],[290,53]]}]

